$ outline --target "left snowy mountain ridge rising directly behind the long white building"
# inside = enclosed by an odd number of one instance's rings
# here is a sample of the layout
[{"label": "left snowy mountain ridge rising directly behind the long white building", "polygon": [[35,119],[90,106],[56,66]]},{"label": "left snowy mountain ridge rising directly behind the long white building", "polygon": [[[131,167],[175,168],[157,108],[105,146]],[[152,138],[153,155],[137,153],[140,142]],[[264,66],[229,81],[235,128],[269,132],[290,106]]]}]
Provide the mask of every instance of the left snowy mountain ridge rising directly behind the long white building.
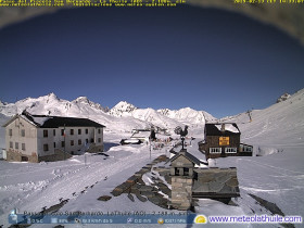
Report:
[{"label": "left snowy mountain ridge rising directly behind the long white building", "polygon": [[149,127],[149,124],[139,119],[111,116],[105,113],[106,109],[88,100],[86,97],[67,101],[59,99],[54,93],[50,93],[39,98],[26,98],[16,103],[0,106],[0,113],[5,116],[20,114],[24,110],[37,115],[86,117],[106,126],[107,130],[113,131],[130,131],[134,128]]}]

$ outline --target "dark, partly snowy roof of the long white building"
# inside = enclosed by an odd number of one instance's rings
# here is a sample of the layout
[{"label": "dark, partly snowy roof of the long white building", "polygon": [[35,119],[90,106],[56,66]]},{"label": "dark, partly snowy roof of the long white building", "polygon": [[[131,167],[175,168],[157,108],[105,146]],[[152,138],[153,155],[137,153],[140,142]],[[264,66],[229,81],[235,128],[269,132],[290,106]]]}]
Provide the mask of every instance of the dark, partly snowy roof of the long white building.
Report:
[{"label": "dark, partly snowy roof of the long white building", "polygon": [[[58,128],[64,125],[66,127],[105,127],[88,118],[29,115],[28,113],[23,113],[22,115],[40,128]],[[39,118],[41,122],[39,122]]]}]

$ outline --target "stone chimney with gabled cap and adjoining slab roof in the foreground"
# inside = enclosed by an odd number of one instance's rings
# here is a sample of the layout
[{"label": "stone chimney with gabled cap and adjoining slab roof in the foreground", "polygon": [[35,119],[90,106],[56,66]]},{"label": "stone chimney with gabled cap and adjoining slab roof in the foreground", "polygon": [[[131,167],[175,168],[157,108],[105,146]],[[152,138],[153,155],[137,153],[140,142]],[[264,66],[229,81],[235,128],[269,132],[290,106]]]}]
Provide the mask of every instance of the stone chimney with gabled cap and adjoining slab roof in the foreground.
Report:
[{"label": "stone chimney with gabled cap and adjoining slab roof in the foreground", "polygon": [[192,210],[193,199],[213,199],[228,203],[240,197],[237,168],[195,168],[201,161],[187,150],[181,150],[170,160],[170,206]]}]

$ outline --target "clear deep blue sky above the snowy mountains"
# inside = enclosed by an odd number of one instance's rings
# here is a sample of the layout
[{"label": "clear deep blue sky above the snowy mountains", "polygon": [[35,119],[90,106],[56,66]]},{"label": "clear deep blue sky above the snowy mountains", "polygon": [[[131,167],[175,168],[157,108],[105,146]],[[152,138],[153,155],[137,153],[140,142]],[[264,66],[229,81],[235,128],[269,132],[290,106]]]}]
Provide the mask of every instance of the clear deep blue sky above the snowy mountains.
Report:
[{"label": "clear deep blue sky above the snowy mountains", "polygon": [[61,10],[0,29],[0,81],[4,102],[54,92],[224,117],[304,88],[304,47],[216,9]]}]

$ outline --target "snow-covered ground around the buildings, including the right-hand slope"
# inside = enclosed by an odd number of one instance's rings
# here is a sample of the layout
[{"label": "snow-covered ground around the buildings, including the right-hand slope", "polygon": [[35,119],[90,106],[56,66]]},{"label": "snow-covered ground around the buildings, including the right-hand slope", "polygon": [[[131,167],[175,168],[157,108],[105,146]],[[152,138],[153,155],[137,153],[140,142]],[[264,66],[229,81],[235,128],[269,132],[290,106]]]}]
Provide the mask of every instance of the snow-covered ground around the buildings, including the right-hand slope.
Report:
[{"label": "snow-covered ground around the buildings, including the right-hand slope", "polygon": [[[107,117],[109,114],[104,115]],[[271,215],[268,210],[250,197],[251,193],[275,203],[286,216],[300,215],[304,217],[302,197],[304,194],[303,116],[304,90],[301,90],[286,101],[268,109],[253,111],[253,122],[251,123],[245,113],[225,118],[226,122],[237,122],[242,132],[241,141],[253,144],[254,153],[263,156],[226,157],[213,161],[213,164],[220,167],[236,166],[238,168],[241,197],[235,200],[238,206],[202,200],[199,202],[200,206],[197,206],[197,211],[206,216]],[[115,116],[110,117],[113,117],[114,122]],[[115,117],[115,121],[121,119],[127,126],[129,125],[127,118],[134,119],[130,116]],[[7,119],[8,117],[4,115],[0,116],[1,124]],[[143,121],[139,122],[144,123]],[[195,138],[192,143],[203,139],[202,126],[193,123],[189,128],[189,136]],[[3,130],[1,130],[1,141],[3,141]],[[110,192],[116,186],[124,182],[151,160],[161,154],[169,155],[168,148],[152,150],[150,160],[150,148],[147,144],[118,144],[121,139],[129,137],[130,132],[107,128],[104,132],[104,142],[107,150],[105,153],[109,156],[87,153],[73,156],[68,161],[38,164],[0,161],[0,225],[9,226],[8,214],[14,207],[20,212],[40,212],[42,207],[48,208],[60,203],[60,200],[67,199],[69,200],[61,208],[61,212],[144,211],[149,213],[166,211],[149,201],[141,202],[135,198],[135,202],[131,202],[127,194],[113,197],[106,202],[97,200],[101,195],[111,195]],[[192,147],[188,147],[188,150],[195,153],[197,147],[192,144]],[[31,225],[30,227],[40,226]],[[77,226],[90,227],[89,225]],[[193,227],[195,226],[198,225],[193,225]],[[223,225],[207,224],[206,227],[208,226],[223,227]],[[239,224],[238,226],[278,227],[281,225]],[[294,226],[303,227],[303,224]],[[52,226],[46,225],[46,227]],[[177,226],[175,225],[175,227]],[[236,227],[236,224],[226,227]]]}]

